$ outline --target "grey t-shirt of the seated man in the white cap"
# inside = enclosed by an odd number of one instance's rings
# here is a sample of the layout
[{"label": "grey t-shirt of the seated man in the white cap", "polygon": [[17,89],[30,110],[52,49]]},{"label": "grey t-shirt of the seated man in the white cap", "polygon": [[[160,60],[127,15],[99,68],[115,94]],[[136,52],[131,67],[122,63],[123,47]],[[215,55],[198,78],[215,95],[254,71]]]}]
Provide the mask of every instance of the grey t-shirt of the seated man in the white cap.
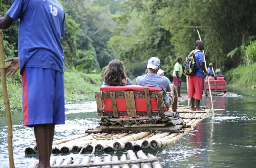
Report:
[{"label": "grey t-shirt of the seated man in the white cap", "polygon": [[164,104],[169,103],[169,98],[166,93],[171,92],[171,88],[167,77],[154,73],[147,73],[146,75],[137,77],[136,85],[161,87],[163,89]]}]

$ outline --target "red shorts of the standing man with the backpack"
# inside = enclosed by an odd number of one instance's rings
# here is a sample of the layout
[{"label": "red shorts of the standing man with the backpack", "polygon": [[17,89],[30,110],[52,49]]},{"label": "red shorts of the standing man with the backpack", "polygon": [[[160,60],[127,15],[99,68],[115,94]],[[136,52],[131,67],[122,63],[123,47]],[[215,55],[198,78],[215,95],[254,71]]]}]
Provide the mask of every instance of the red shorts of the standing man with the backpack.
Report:
[{"label": "red shorts of the standing man with the backpack", "polygon": [[204,81],[200,76],[188,76],[188,98],[202,99]]}]

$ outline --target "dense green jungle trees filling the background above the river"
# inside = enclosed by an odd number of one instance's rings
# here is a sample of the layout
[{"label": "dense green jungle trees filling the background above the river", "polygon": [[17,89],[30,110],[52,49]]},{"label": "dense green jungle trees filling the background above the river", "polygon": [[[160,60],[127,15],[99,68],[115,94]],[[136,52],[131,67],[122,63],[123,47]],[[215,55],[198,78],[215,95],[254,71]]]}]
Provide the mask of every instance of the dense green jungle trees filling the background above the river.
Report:
[{"label": "dense green jungle trees filling the background above the river", "polygon": [[[65,72],[100,76],[110,60],[119,59],[133,79],[145,72],[150,57],[157,56],[161,69],[171,78],[177,56],[183,58],[184,65],[195,48],[197,30],[204,41],[207,64],[221,69],[229,84],[247,73],[246,66],[256,70],[254,0],[59,1],[66,12],[65,37],[61,40]],[[0,15],[11,3],[0,0]],[[18,56],[18,22],[3,30],[6,58]],[[251,86],[256,78],[245,81],[241,84]],[[19,74],[9,79],[10,83],[20,85]]]}]

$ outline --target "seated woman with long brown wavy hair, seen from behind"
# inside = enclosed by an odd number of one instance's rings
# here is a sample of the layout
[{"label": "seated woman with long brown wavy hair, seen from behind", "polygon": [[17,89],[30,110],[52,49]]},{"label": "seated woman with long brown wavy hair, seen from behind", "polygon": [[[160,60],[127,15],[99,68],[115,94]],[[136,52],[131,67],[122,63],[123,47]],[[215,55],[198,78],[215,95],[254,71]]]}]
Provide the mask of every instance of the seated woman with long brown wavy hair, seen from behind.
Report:
[{"label": "seated woman with long brown wavy hair, seen from behind", "polygon": [[103,85],[109,85],[109,86],[132,85],[131,79],[129,79],[125,73],[123,62],[120,60],[111,60],[108,63],[102,76],[103,76]]}]

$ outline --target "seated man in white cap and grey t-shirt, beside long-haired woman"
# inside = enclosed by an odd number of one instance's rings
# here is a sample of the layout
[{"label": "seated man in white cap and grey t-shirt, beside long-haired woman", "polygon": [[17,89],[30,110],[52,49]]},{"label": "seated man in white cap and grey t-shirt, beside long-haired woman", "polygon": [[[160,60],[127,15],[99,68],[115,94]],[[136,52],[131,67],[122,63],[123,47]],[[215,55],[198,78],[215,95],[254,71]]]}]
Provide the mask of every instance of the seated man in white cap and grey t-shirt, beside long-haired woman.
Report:
[{"label": "seated man in white cap and grey t-shirt, beside long-haired woman", "polygon": [[136,79],[136,85],[161,87],[163,89],[163,100],[165,106],[169,108],[172,105],[174,117],[180,117],[179,113],[176,112],[178,99],[175,86],[173,84],[169,84],[167,77],[157,74],[160,70],[160,60],[157,57],[151,57],[148,60],[147,68],[148,73],[143,76],[138,76]]}]

